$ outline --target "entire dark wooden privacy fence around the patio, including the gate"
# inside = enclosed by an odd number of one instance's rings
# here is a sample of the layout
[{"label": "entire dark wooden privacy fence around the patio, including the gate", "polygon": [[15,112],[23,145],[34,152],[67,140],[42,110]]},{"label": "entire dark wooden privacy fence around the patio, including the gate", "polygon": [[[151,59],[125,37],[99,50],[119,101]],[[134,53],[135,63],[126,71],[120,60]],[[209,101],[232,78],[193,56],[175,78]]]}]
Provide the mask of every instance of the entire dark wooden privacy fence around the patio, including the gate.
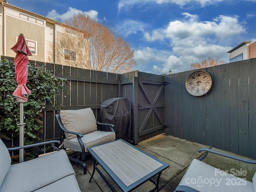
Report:
[{"label": "entire dark wooden privacy fence around the patio, including the gate", "polygon": [[[2,58],[8,58],[2,56]],[[8,58],[12,60],[13,58]],[[112,74],[30,60],[66,78],[62,108],[90,107],[96,119],[100,103],[126,97],[132,109],[134,144],[165,132],[186,140],[256,158],[256,58],[204,68],[212,87],[203,96],[192,96],[185,88],[193,71],[168,75],[144,72]],[[60,139],[56,108],[46,104],[42,112],[43,140]]]}]

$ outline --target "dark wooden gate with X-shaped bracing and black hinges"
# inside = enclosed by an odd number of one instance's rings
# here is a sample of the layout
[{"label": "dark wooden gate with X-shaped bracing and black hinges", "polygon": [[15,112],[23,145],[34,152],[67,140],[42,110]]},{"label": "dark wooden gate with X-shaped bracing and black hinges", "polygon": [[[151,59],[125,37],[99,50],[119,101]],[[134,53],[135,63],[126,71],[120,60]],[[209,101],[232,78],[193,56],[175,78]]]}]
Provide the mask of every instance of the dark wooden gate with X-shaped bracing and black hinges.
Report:
[{"label": "dark wooden gate with X-shaped bracing and black hinges", "polygon": [[166,128],[164,87],[168,82],[165,80],[166,76],[143,72],[138,72],[138,78],[134,78],[134,88],[137,89],[134,115],[138,117],[134,122],[135,144],[163,133]]}]

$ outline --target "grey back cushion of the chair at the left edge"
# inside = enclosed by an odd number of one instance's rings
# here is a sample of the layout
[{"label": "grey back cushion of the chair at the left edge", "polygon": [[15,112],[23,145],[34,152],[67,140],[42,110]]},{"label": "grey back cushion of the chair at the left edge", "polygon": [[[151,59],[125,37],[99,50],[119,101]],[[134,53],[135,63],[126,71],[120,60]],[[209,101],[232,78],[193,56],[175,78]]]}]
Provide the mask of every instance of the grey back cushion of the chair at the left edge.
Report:
[{"label": "grey back cushion of the chair at the left edge", "polygon": [[11,157],[5,144],[0,139],[0,187],[11,166]]}]

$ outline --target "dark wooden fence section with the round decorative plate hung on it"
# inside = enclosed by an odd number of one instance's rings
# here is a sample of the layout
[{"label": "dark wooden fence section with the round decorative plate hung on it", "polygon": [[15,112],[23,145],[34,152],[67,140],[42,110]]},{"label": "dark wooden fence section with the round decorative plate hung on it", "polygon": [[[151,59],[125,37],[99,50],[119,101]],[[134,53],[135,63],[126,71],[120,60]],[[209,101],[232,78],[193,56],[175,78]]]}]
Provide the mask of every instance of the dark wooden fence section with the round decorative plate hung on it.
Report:
[{"label": "dark wooden fence section with the round decorative plate hung on it", "polygon": [[203,96],[185,88],[193,71],[166,76],[166,133],[256,158],[256,58],[202,70],[212,78]]}]

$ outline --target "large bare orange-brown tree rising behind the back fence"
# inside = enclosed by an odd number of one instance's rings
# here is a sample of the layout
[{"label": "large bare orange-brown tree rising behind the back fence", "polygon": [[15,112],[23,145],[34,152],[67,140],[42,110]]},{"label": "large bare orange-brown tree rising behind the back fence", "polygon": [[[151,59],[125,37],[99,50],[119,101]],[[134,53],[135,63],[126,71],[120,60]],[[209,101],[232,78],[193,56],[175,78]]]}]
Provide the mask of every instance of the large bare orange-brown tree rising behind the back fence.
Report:
[{"label": "large bare orange-brown tree rising behind the back fence", "polygon": [[83,13],[65,23],[56,42],[56,63],[112,73],[135,70],[134,50],[107,26]]}]

